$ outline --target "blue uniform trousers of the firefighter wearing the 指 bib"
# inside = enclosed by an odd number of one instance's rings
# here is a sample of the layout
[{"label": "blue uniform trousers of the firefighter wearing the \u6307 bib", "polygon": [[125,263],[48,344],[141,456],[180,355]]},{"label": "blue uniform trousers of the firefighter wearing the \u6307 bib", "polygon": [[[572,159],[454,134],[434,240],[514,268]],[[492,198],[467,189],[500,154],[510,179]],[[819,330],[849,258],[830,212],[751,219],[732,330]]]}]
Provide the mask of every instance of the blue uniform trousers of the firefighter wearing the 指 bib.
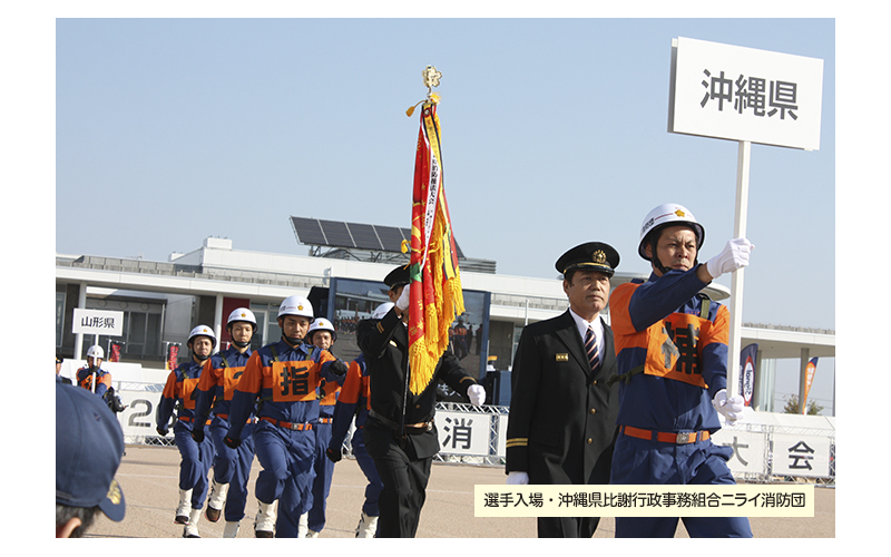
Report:
[{"label": "blue uniform trousers of the firefighter wearing the \u6307 bib", "polygon": [[255,495],[265,504],[278,500],[276,537],[296,537],[300,516],[312,504],[315,430],[292,431],[258,421],[254,447],[263,470]]}]

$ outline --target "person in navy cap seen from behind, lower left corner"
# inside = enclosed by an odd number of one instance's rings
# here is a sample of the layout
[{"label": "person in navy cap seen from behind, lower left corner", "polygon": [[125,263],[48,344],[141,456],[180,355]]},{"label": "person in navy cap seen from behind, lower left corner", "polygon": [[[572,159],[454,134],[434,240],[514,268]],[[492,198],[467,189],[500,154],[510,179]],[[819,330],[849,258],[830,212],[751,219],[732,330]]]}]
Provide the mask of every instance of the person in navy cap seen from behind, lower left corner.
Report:
[{"label": "person in navy cap seen from behind, lower left corner", "polygon": [[98,511],[124,520],[126,502],[115,473],[124,434],[101,399],[56,383],[56,537],[80,538]]}]

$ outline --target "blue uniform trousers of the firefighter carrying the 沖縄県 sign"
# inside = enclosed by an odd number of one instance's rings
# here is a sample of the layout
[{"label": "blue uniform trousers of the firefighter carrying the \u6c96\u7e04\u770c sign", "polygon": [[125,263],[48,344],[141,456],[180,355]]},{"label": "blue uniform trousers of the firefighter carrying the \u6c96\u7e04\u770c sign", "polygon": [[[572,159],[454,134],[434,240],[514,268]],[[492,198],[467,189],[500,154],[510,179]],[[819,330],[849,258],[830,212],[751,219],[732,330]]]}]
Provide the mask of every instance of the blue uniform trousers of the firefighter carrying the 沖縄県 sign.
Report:
[{"label": "blue uniform trousers of the firefighter carrying the \u6c96\u7e04\u770c sign", "polygon": [[[619,434],[610,483],[734,485],[727,461],[730,447],[711,440],[689,444],[663,443]],[[691,538],[751,538],[745,517],[683,517]],[[617,538],[673,538],[677,517],[616,517]]]}]

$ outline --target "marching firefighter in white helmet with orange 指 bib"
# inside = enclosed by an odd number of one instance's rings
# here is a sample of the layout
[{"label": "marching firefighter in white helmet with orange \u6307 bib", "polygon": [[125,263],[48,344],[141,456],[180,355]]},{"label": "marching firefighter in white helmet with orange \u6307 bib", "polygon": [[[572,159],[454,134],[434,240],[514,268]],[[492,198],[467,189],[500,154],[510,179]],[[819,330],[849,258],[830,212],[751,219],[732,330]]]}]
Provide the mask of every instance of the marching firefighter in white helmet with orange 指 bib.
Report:
[{"label": "marching firefighter in white helmet with orange \u6307 bib", "polygon": [[[251,354],[232,395],[229,430],[223,441],[233,449],[242,443],[245,422],[258,403],[253,432],[263,467],[254,490],[257,538],[297,537],[300,516],[312,502],[316,389],[322,379],[336,382],[346,373],[346,364],[331,352],[304,342],[314,319],[306,297],[286,297],[278,306],[282,339]],[[287,508],[277,516],[276,505],[285,489]]]}]

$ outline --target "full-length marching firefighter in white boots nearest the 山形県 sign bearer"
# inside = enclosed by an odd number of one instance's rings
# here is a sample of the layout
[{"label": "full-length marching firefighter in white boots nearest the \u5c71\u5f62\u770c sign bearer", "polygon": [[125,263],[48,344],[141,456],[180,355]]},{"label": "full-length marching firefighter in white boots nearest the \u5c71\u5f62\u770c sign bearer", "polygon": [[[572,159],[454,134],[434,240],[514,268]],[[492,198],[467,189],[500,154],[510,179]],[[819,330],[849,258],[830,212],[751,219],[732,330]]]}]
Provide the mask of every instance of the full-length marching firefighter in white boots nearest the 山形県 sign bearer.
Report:
[{"label": "full-length marching firefighter in white boots nearest the \u5c71\u5f62\u770c sign bearer", "polygon": [[179,505],[176,508],[174,522],[185,525],[184,538],[199,538],[198,519],[202,516],[204,499],[207,497],[207,475],[214,461],[214,443],[210,438],[198,442],[192,437],[192,429],[195,426],[193,394],[204,364],[216,346],[216,334],[209,326],[198,325],[189,333],[186,345],[192,352],[192,358],[167,377],[167,383],[158,402],[157,431],[161,437],[167,434],[167,424],[176,409],[174,437],[183,460],[179,463]]}]

